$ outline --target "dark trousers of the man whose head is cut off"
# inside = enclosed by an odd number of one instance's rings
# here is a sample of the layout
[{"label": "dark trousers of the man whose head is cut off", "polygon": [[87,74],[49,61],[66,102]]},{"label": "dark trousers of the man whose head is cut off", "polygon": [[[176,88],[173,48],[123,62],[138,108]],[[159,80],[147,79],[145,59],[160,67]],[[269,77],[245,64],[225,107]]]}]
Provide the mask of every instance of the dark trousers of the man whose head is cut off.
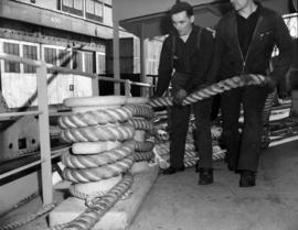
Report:
[{"label": "dark trousers of the man whose head is cut off", "polygon": [[[223,141],[227,149],[227,164],[234,169],[257,171],[263,132],[263,108],[267,91],[247,86],[221,95]],[[243,105],[244,125],[240,140],[238,118]]]}]

